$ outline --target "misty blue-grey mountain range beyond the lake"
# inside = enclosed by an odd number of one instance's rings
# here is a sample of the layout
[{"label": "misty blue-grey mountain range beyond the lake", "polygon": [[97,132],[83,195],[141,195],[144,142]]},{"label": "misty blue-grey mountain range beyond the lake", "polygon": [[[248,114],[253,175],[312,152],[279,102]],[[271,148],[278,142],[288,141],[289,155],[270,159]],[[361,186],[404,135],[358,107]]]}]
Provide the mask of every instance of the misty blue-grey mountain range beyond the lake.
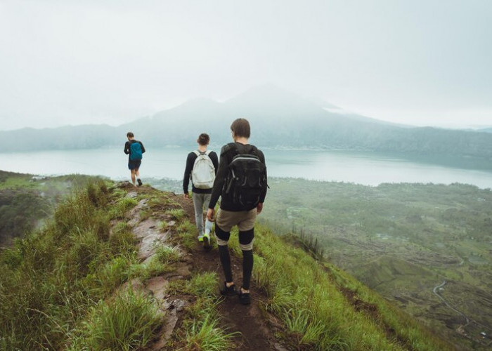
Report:
[{"label": "misty blue-grey mountain range beyond the lake", "polygon": [[252,88],[226,102],[195,99],[122,126],[65,126],[0,131],[1,150],[67,150],[122,147],[127,131],[145,146],[194,145],[209,133],[212,144],[231,141],[230,125],[238,117],[252,126],[251,143],[261,147],[371,150],[452,154],[492,158],[492,128],[460,131],[389,124],[308,100],[271,85]]}]

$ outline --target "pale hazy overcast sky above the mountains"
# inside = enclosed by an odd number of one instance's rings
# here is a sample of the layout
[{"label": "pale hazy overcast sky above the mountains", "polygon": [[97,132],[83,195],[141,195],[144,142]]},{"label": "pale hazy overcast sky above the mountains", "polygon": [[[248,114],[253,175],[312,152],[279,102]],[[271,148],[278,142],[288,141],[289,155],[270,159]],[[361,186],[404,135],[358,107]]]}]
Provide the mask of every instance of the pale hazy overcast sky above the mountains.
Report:
[{"label": "pale hazy overcast sky above the mountains", "polygon": [[0,130],[122,124],[264,83],[492,125],[492,1],[0,0]]}]

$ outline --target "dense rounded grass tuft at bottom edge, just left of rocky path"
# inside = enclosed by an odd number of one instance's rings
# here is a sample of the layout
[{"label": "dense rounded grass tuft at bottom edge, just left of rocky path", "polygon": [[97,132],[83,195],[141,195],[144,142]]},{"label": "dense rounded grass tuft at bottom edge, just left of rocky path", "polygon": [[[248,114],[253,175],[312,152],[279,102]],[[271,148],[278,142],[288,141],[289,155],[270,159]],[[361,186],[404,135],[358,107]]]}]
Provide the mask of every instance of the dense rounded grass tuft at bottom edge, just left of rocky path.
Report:
[{"label": "dense rounded grass tuft at bottom edge, just left of rocky path", "polygon": [[101,300],[92,308],[82,336],[69,350],[82,345],[87,350],[135,350],[148,345],[161,324],[162,314],[153,300],[125,289],[114,300]]}]

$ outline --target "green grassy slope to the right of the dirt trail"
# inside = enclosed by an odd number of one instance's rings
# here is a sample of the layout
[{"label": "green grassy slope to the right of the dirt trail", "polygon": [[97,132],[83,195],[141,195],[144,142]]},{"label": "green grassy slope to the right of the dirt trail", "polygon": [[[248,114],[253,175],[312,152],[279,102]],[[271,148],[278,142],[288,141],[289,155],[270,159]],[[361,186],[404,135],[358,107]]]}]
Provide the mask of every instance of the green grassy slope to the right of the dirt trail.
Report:
[{"label": "green grassy slope to the right of the dirt trail", "polygon": [[[285,343],[313,350],[448,350],[415,320],[377,298],[363,284],[328,270],[301,249],[285,244],[266,227],[257,226],[253,279],[266,291],[266,310],[285,323]],[[329,267],[332,267],[328,265]],[[345,296],[350,290],[361,306]],[[387,330],[394,330],[388,338]],[[418,347],[418,348],[417,348]]]}]

